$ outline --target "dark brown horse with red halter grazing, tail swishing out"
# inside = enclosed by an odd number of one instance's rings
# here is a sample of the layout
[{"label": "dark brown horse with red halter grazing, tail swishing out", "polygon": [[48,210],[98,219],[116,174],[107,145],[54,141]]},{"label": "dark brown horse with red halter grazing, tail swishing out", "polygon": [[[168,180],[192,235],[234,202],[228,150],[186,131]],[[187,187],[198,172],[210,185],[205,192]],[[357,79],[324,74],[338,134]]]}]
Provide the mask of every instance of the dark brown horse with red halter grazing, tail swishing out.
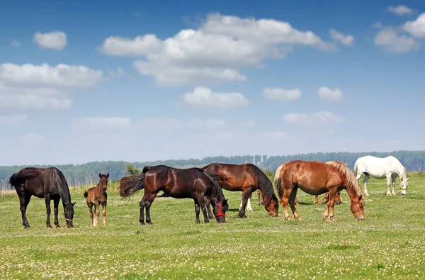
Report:
[{"label": "dark brown horse with red halter grazing, tail swishing out", "polygon": [[163,191],[172,198],[192,198],[195,202],[196,223],[199,223],[200,209],[202,209],[205,223],[210,222],[205,207],[205,196],[208,196],[211,198],[217,223],[225,223],[227,199],[220,185],[211,176],[200,168],[177,169],[166,165],[144,167],[140,175],[129,177],[121,184],[120,196],[128,197],[140,189],[145,189],[145,194],[140,201],[142,225],[145,225],[145,208],[146,223],[152,225],[150,207],[159,191]]}]

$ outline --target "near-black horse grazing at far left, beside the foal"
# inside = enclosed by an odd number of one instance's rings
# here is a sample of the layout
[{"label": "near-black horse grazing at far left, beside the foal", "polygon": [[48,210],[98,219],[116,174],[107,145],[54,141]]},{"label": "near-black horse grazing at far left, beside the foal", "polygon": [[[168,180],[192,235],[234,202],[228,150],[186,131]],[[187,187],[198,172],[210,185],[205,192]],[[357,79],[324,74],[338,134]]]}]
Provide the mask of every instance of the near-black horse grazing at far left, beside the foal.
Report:
[{"label": "near-black horse grazing at far left, beside the foal", "polygon": [[50,225],[51,199],[53,199],[56,228],[60,228],[57,213],[59,201],[61,199],[62,206],[64,207],[64,218],[67,223],[67,227],[74,227],[74,225],[72,225],[72,219],[74,218],[75,202],[71,202],[71,194],[69,194],[69,188],[64,174],[62,174],[62,172],[60,172],[60,170],[56,167],[25,167],[10,177],[9,184],[15,187],[16,194],[19,196],[22,225],[24,228],[30,228],[30,224],[26,218],[26,208],[28,203],[30,203],[31,196],[45,198],[47,228],[52,228],[52,225]]}]

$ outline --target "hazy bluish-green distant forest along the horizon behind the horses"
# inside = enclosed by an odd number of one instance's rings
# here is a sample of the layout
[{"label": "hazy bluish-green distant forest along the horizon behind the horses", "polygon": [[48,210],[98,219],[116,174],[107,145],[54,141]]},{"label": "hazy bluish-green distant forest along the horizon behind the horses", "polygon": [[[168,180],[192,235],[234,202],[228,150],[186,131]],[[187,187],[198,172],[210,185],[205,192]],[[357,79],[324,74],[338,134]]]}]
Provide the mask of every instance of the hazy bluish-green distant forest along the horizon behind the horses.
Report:
[{"label": "hazy bluish-green distant forest along the horizon behind the horses", "polygon": [[[93,185],[98,182],[98,173],[110,173],[111,179],[119,180],[121,177],[128,176],[128,166],[142,169],[145,165],[165,164],[171,167],[188,168],[203,167],[212,162],[242,164],[250,162],[256,164],[261,169],[274,172],[276,168],[294,159],[317,160],[326,162],[329,160],[339,160],[348,163],[348,167],[353,169],[354,162],[358,157],[365,155],[374,155],[376,157],[387,157],[393,155],[399,159],[406,167],[407,171],[424,171],[425,170],[425,151],[394,151],[394,152],[317,152],[310,154],[288,155],[288,156],[271,156],[267,155],[240,155],[232,157],[204,157],[203,159],[169,159],[156,162],[88,162],[86,164],[64,164],[57,165],[70,186]],[[0,167],[0,189],[8,189],[8,179],[15,172],[26,166]],[[47,165],[35,165],[35,167],[49,167]]]}]

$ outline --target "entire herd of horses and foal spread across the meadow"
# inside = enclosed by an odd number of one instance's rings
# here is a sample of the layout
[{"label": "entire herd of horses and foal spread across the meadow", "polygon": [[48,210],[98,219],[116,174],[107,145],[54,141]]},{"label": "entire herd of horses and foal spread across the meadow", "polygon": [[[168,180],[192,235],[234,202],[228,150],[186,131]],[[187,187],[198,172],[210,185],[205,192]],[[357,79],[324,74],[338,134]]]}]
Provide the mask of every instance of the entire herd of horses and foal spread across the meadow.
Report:
[{"label": "entire herd of horses and foal spread across the meadow", "polygon": [[[358,184],[358,179],[365,174],[363,180],[363,193]],[[295,205],[297,190],[301,189],[307,194],[314,195],[314,203],[318,203],[317,196],[325,194],[326,208],[322,219],[336,220],[334,205],[341,203],[340,191],[346,190],[351,200],[351,213],[356,220],[365,217],[365,198],[368,196],[367,182],[369,177],[387,179],[387,195],[395,194],[395,178],[400,178],[400,189],[406,194],[408,187],[407,171],[395,157],[385,158],[365,156],[360,157],[354,164],[354,170],[339,161],[317,162],[293,160],[285,162],[276,169],[273,183],[259,167],[254,164],[224,164],[212,163],[205,167],[177,169],[166,165],[146,166],[140,174],[120,179],[120,196],[128,198],[140,189],[145,189],[145,194],[140,201],[140,223],[152,225],[150,207],[159,191],[172,198],[192,198],[195,206],[196,223],[200,223],[200,211],[203,213],[205,223],[216,219],[217,223],[225,223],[226,212],[229,208],[227,199],[222,189],[227,191],[242,191],[242,202],[239,208],[239,218],[246,218],[246,204],[251,194],[258,191],[259,203],[263,204],[271,217],[278,216],[279,203],[283,206],[284,219],[290,219],[288,204],[295,220],[300,219]],[[98,225],[100,206],[103,212],[103,225],[106,225],[106,205],[108,195],[108,174],[99,173],[97,186],[84,193],[86,204],[89,207],[91,225]],[[53,200],[55,213],[55,226],[60,227],[58,220],[58,206],[62,200],[64,219],[68,228],[73,228],[74,203],[71,202],[69,186],[62,172],[56,167],[38,168],[25,167],[13,174],[9,183],[16,189],[19,197],[22,223],[24,228],[30,228],[26,218],[26,208],[31,196],[45,198],[47,228],[50,225],[50,201]],[[392,192],[390,192],[392,186]],[[279,198],[275,194],[279,196]],[[93,211],[94,206],[94,211]],[[210,209],[212,206],[212,211]]]}]

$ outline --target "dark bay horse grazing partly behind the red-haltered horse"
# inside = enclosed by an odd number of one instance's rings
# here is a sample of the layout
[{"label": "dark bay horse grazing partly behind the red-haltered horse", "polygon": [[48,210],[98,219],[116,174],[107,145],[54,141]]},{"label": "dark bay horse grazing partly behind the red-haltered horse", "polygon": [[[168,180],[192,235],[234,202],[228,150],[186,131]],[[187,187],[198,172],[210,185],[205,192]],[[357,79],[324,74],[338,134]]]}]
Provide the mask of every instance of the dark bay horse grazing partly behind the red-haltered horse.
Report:
[{"label": "dark bay horse grazing partly behind the red-haltered horse", "polygon": [[[259,189],[263,195],[264,208],[268,215],[278,215],[279,202],[274,194],[273,184],[267,175],[254,164],[212,163],[203,167],[206,172],[215,174],[218,184],[227,191],[242,191],[242,206],[239,218],[246,218],[245,207],[251,193]],[[208,198],[207,198],[208,203]],[[210,207],[207,205],[207,208]]]}]

